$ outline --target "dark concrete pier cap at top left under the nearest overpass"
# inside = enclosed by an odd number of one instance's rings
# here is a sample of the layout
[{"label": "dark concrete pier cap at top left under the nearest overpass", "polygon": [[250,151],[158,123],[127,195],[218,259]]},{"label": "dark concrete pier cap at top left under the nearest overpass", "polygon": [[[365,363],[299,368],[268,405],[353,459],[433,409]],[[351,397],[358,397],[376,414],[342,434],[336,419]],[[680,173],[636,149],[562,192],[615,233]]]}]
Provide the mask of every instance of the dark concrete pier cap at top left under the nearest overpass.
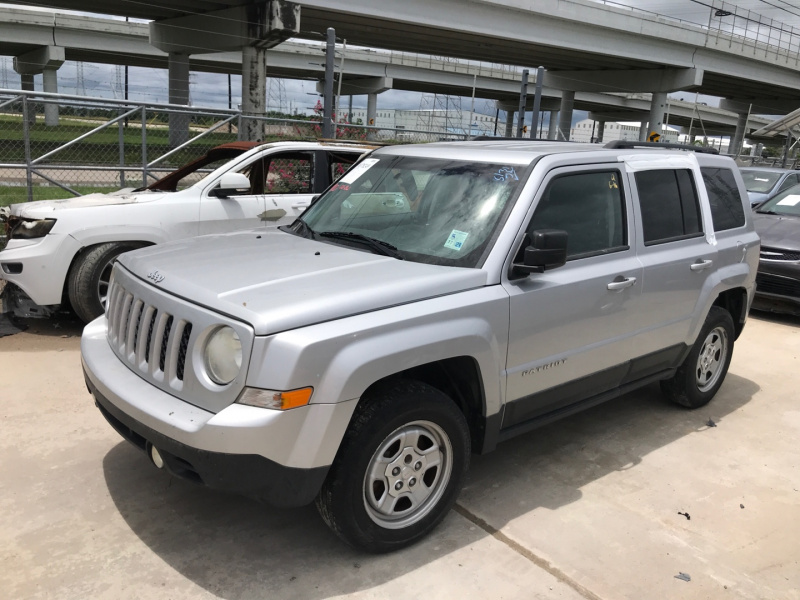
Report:
[{"label": "dark concrete pier cap at top left under the nearest overpass", "polygon": [[272,48],[300,31],[300,6],[285,0],[152,21],[150,43],[164,52],[206,54]]}]

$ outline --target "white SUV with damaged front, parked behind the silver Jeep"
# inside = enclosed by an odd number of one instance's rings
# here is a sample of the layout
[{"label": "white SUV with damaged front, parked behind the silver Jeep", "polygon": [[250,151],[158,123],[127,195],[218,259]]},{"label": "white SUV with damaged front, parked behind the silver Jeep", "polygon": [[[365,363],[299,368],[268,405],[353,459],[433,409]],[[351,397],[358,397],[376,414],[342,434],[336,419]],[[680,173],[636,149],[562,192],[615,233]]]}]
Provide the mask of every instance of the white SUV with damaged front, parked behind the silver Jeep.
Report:
[{"label": "white SUV with damaged front, parked behind the silver Jeep", "polygon": [[[103,312],[111,265],[168,240],[291,223],[366,146],[237,142],[138,190],[12,205],[0,252],[4,309],[47,316],[69,303],[86,322]],[[211,173],[199,181],[199,169]],[[186,183],[187,187],[183,187]]]}]

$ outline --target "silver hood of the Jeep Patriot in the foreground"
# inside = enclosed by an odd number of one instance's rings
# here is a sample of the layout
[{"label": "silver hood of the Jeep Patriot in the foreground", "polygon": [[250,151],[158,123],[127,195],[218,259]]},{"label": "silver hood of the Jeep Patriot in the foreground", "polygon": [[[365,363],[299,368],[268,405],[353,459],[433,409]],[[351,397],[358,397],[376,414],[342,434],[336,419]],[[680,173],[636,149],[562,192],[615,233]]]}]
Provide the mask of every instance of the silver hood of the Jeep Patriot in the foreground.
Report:
[{"label": "silver hood of the Jeep Patriot in the foreground", "polygon": [[151,246],[120,257],[157,287],[267,335],[486,285],[486,273],[401,261],[278,230]]}]

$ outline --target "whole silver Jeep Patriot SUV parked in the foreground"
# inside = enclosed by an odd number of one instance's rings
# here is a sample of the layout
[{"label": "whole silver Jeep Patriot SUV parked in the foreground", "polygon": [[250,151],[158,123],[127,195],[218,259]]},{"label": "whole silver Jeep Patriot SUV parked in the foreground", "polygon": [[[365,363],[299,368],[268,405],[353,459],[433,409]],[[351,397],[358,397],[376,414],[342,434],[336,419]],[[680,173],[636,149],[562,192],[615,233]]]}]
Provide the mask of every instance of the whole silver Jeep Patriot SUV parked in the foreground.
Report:
[{"label": "whole silver Jeep Patriot SUV parked in the foreground", "polygon": [[722,384],[759,239],[729,158],[530,141],[383,148],[292,225],[122,255],[83,334],[156,467],[406,546],[470,453],[660,381]]}]

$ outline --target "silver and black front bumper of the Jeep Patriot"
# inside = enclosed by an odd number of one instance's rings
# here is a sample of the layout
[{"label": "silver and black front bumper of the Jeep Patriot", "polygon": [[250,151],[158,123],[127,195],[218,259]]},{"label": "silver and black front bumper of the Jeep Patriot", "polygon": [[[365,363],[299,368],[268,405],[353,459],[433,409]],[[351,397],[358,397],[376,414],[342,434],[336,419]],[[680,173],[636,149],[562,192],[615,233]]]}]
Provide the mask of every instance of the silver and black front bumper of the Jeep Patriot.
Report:
[{"label": "silver and black front bumper of the Jeep Patriot", "polygon": [[172,474],[275,506],[302,506],[319,491],[357,400],[277,411],[232,404],[212,413],[161,391],[128,369],[86,326],[81,360],[103,416],[142,450],[155,446]]}]

